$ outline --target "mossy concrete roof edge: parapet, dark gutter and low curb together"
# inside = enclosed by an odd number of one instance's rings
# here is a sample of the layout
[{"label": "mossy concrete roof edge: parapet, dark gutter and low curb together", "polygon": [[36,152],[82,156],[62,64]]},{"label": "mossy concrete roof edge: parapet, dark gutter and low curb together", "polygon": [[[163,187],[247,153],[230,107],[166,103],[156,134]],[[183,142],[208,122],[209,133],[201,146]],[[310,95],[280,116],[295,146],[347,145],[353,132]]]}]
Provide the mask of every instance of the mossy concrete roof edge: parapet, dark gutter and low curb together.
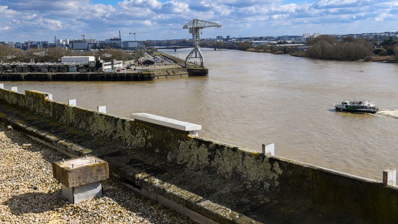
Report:
[{"label": "mossy concrete roof edge: parapet, dark gutter and low curb together", "polygon": [[0,121],[70,154],[96,155],[121,180],[221,223],[398,222],[396,187],[37,92],[0,89]]}]

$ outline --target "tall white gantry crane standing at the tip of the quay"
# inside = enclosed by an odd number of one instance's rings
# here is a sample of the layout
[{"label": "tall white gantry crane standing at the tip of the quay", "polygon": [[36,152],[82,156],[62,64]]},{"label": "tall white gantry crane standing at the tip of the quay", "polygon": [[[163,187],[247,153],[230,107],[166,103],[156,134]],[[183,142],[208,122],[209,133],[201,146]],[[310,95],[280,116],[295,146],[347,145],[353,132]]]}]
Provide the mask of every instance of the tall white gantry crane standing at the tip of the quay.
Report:
[{"label": "tall white gantry crane standing at the tip of the quay", "polygon": [[[188,54],[187,58],[185,59],[185,67],[188,67],[188,61],[191,58],[199,58],[200,59],[200,66],[204,67],[203,63],[203,55],[200,52],[200,37],[199,32],[200,29],[205,27],[217,27],[220,28],[221,24],[215,22],[204,21],[200,19],[193,19],[189,23],[185,24],[183,29],[190,29],[190,33],[192,33],[192,38],[194,40],[194,49]],[[195,53],[195,57],[193,54]]]}]

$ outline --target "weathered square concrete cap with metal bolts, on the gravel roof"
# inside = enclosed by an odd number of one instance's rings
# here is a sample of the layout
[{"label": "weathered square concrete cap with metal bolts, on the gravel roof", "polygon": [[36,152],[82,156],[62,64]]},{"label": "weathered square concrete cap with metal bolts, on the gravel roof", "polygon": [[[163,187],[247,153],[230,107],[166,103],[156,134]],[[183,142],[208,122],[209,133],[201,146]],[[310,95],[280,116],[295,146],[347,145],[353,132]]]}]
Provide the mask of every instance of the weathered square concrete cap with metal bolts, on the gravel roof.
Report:
[{"label": "weathered square concrete cap with metal bolts, on the gravel roof", "polygon": [[108,163],[95,157],[78,157],[53,162],[53,176],[67,188],[79,187],[109,178]]}]

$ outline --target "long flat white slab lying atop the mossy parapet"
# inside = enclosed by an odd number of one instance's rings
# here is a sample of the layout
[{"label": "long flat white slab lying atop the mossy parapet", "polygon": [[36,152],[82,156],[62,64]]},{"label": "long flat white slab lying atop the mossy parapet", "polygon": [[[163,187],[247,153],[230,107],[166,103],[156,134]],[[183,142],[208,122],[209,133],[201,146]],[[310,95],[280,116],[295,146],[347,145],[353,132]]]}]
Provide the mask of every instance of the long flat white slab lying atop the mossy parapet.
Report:
[{"label": "long flat white slab lying atop the mossy parapet", "polygon": [[136,120],[142,120],[149,123],[154,123],[166,127],[171,127],[183,131],[193,131],[192,133],[198,135],[198,131],[202,129],[202,126],[195,123],[189,123],[181,120],[167,118],[164,116],[158,116],[150,113],[131,113],[130,118]]}]

